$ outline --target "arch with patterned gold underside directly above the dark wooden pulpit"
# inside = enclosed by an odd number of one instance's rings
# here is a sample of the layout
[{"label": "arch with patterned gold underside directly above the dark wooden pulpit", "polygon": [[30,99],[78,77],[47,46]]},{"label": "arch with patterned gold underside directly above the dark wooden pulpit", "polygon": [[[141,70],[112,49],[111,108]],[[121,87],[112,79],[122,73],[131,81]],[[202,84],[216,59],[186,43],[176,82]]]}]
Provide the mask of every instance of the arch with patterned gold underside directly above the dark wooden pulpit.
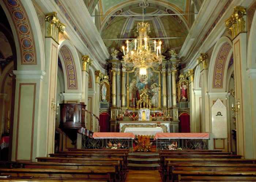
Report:
[{"label": "arch with patterned gold underside directly above the dark wooden pulpit", "polygon": [[59,53],[65,75],[65,92],[82,92],[82,71],[75,47],[69,40],[63,40],[59,45]]}]

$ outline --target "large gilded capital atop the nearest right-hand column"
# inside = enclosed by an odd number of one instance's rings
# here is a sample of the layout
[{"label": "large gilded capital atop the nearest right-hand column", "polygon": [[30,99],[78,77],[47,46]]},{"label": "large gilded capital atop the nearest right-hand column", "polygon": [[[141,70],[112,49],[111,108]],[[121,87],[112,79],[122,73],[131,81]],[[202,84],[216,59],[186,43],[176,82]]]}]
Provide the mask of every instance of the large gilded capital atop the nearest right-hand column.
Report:
[{"label": "large gilded capital atop the nearest right-hand column", "polygon": [[235,6],[233,14],[229,19],[225,20],[227,29],[231,30],[232,39],[234,39],[240,32],[245,32],[246,7]]}]

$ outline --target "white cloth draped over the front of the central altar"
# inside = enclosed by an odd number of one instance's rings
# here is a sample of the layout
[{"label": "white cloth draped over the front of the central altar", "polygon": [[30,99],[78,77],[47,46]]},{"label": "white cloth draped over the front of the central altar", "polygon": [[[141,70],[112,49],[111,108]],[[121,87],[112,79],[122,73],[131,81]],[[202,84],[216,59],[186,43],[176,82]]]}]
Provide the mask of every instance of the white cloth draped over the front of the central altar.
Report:
[{"label": "white cloth draped over the front of the central altar", "polygon": [[134,135],[155,135],[156,133],[162,133],[163,128],[156,127],[156,128],[145,128],[145,127],[138,127],[138,128],[125,128],[124,132],[133,133]]}]

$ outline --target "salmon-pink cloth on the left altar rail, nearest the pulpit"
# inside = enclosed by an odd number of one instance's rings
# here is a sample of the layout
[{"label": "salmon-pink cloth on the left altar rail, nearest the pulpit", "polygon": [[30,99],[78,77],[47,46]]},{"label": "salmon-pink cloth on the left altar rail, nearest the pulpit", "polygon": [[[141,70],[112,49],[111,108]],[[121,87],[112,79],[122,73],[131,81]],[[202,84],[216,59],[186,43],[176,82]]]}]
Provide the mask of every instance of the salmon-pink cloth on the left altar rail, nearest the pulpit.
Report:
[{"label": "salmon-pink cloth on the left altar rail, nearest the pulpit", "polygon": [[104,139],[104,138],[122,138],[122,139],[134,139],[135,136],[131,132],[120,133],[120,132],[94,132],[93,138]]}]

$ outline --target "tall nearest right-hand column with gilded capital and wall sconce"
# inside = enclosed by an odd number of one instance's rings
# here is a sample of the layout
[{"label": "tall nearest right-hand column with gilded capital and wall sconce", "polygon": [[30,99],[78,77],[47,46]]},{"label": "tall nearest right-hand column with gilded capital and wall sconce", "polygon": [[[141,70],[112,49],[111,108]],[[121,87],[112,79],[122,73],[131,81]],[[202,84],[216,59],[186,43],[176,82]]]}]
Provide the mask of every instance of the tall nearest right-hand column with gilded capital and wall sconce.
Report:
[{"label": "tall nearest right-hand column with gilded capital and wall sconce", "polygon": [[[245,158],[253,158],[256,155],[255,143],[255,120],[252,115],[254,111],[248,109],[252,106],[252,99],[255,91],[252,90],[253,83],[251,70],[248,70],[247,60],[247,33],[246,33],[246,7],[236,6],[229,19],[225,21],[226,27],[231,30],[233,38],[234,54],[234,78],[236,103],[234,104],[237,120],[237,154],[244,155]],[[248,76],[249,75],[249,76]],[[251,83],[251,84],[250,84]],[[240,108],[239,108],[240,106]],[[247,106],[247,107],[246,107]],[[254,141],[255,142],[255,141]],[[253,154],[254,153],[254,154]]]}]

